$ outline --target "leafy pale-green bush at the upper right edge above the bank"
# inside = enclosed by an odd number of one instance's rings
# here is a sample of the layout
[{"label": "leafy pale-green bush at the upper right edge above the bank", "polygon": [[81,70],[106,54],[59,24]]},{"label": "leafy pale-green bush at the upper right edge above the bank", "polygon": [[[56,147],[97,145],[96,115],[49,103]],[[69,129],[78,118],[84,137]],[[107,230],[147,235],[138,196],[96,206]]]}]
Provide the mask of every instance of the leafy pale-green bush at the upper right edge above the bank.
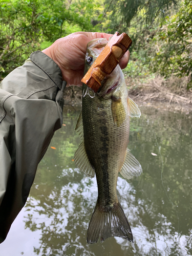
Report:
[{"label": "leafy pale-green bush at the upper right edge above the bank", "polygon": [[[178,76],[192,72],[192,2],[186,0],[177,14],[166,16],[154,36],[156,50],[153,58],[154,72],[157,67],[162,75],[175,73]],[[159,42],[159,44],[158,44]],[[158,49],[159,48],[159,49]]]}]

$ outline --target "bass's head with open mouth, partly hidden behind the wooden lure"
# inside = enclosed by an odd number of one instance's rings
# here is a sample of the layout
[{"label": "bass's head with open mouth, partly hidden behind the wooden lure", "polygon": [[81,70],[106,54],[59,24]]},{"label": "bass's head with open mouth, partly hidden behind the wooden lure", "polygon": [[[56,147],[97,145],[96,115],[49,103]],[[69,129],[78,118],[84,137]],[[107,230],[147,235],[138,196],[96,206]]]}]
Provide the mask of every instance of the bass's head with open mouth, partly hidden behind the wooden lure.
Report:
[{"label": "bass's head with open mouth, partly hidden behind the wooden lure", "polygon": [[[96,38],[88,43],[84,74],[88,72],[106,44],[108,44],[108,40],[106,38]],[[106,75],[101,81],[101,88],[98,90],[97,95],[104,99],[110,99],[114,93],[118,93],[123,83],[123,72],[120,66],[117,65],[113,72],[110,75]]]}]

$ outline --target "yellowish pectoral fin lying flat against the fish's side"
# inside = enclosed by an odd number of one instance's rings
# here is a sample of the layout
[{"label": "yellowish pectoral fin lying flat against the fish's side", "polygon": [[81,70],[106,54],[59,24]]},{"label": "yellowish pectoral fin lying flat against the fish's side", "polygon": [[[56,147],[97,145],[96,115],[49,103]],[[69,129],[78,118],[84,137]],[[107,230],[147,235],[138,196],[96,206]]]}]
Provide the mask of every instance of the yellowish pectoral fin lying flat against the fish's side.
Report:
[{"label": "yellowish pectoral fin lying flat against the fish's side", "polygon": [[118,127],[121,126],[126,118],[126,113],[121,98],[112,98],[111,110],[114,123],[117,123]]}]

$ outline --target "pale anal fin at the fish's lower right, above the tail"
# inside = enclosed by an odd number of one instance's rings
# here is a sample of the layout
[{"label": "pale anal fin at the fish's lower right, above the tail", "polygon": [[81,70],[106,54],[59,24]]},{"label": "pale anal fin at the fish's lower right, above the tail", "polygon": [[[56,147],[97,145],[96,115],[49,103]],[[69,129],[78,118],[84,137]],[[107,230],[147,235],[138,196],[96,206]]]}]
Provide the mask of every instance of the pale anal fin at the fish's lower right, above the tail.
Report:
[{"label": "pale anal fin at the fish's lower right, above the tail", "polygon": [[125,179],[132,179],[134,176],[138,177],[142,173],[142,167],[137,159],[130,153],[130,150],[126,149],[125,160],[120,170],[120,174]]}]

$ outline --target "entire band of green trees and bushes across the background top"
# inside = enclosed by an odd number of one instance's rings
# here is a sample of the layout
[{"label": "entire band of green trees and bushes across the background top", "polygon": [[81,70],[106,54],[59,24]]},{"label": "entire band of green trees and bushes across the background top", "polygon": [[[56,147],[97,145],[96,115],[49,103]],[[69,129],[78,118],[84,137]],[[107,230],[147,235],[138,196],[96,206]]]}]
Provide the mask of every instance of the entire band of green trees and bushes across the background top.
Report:
[{"label": "entire band of green trees and bushes across the background top", "polygon": [[191,76],[191,28],[191,0],[0,0],[0,79],[76,31],[128,33],[135,76]]}]

